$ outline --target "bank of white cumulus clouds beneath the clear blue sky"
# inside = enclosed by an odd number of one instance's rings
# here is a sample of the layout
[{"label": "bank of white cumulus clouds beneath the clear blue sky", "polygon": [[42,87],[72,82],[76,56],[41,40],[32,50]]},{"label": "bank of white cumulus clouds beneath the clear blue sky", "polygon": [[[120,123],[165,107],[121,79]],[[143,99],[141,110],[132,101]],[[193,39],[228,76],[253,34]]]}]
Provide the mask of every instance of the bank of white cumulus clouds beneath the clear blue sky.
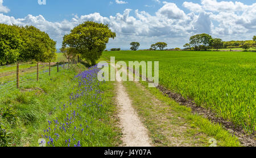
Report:
[{"label": "bank of white cumulus clouds beneath the clear blue sky", "polygon": [[163,2],[162,5],[155,14],[126,9],[109,17],[98,12],[81,16],[73,14],[71,20],[63,22],[49,22],[42,15],[16,19],[0,14],[0,23],[34,25],[56,40],[58,47],[65,34],[86,20],[108,24],[117,33],[117,38],[110,40],[109,47],[120,48],[129,48],[131,41],[141,41],[141,48],[148,48],[156,41],[181,47],[188,42],[189,36],[196,33],[209,33],[223,40],[248,40],[256,33],[256,3],[244,5],[216,0],[202,0],[200,4],[184,2],[183,7],[190,11],[187,14],[175,3]]}]

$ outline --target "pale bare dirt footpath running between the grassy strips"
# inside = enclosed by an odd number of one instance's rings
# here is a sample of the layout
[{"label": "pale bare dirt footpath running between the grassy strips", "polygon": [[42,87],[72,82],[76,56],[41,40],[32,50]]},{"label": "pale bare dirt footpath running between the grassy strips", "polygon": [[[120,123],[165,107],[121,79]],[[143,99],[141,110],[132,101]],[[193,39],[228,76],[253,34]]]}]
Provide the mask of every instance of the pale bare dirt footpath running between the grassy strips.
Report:
[{"label": "pale bare dirt footpath running between the grassy strips", "polygon": [[148,131],[133,109],[131,100],[122,82],[117,82],[117,103],[120,108],[118,117],[122,126],[123,146],[151,147],[151,141],[147,134]]}]

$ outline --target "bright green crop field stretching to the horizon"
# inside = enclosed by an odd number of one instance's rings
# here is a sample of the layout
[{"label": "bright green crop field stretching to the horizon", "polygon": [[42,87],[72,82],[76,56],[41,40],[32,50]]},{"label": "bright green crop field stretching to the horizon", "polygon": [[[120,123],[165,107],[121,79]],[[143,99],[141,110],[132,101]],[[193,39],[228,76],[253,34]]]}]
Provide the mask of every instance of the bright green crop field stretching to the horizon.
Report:
[{"label": "bright green crop field stretching to the horizon", "polygon": [[159,84],[255,131],[256,53],[119,51],[103,56],[116,62],[159,61]]}]

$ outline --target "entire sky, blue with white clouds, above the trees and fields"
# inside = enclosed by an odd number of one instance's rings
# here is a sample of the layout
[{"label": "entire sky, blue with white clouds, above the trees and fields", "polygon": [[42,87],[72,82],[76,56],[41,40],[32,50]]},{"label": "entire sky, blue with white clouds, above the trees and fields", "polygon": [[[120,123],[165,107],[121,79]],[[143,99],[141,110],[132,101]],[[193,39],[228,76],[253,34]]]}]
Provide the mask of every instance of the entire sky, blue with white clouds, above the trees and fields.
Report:
[{"label": "entire sky, blue with white clouds, above the trees and fields", "polygon": [[129,42],[149,48],[167,42],[182,47],[196,33],[223,40],[250,40],[256,34],[255,0],[0,0],[0,23],[35,25],[61,46],[62,36],[73,27],[93,20],[117,32],[112,47],[127,49]]}]

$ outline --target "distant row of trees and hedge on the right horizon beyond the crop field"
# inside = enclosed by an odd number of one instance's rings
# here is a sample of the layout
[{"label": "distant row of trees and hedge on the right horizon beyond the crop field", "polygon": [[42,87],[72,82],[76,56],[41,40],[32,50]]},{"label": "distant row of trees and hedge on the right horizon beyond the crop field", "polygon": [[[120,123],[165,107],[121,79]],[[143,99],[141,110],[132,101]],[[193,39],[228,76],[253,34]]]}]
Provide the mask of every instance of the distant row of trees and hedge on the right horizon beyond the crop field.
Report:
[{"label": "distant row of trees and hedge on the right horizon beyond the crop field", "polygon": [[212,36],[202,33],[191,36],[189,43],[183,47],[189,50],[207,50],[207,49],[226,49],[226,48],[243,48],[249,49],[256,46],[256,36],[253,40],[247,41],[222,41],[221,39],[213,39]]}]

